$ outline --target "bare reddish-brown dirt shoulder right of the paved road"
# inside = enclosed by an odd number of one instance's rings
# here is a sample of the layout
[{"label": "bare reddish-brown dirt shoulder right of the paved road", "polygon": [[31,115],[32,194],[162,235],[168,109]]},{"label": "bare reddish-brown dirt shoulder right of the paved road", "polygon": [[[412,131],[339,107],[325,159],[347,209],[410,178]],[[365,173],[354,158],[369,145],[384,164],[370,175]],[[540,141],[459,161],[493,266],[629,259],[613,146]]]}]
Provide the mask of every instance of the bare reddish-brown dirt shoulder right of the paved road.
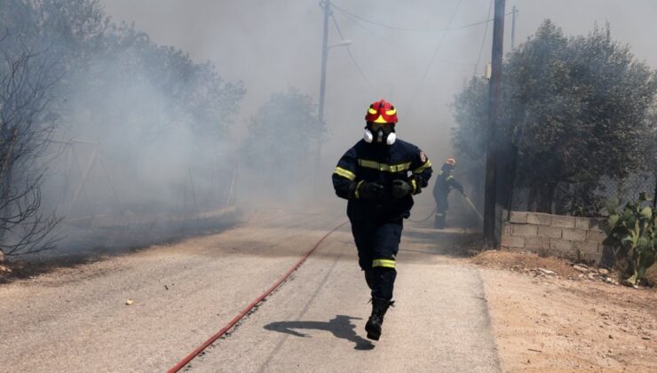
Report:
[{"label": "bare reddish-brown dirt shoulder right of the paved road", "polygon": [[493,250],[471,261],[504,371],[657,371],[657,289],[534,254]]}]

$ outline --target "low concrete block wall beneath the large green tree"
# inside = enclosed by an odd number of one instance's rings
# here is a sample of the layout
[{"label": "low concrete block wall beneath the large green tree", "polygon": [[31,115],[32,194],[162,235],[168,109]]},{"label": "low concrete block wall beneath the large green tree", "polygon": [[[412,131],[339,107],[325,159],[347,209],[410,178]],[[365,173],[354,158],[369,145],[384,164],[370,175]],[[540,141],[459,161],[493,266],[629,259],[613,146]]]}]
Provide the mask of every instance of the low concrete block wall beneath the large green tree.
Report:
[{"label": "low concrete block wall beneath the large green tree", "polygon": [[599,263],[605,238],[596,218],[511,211],[503,226],[501,246],[503,250]]}]

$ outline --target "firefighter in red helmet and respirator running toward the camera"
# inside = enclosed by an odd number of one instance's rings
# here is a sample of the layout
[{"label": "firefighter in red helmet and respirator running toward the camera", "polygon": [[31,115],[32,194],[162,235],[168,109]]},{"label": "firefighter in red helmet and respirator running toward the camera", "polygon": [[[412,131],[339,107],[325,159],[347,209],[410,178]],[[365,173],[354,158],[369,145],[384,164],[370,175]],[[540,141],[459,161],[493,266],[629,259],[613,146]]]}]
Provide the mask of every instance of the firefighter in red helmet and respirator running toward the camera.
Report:
[{"label": "firefighter in red helmet and respirator running toward the camera", "polygon": [[337,196],[348,200],[359,265],[371,290],[365,329],[368,338],[378,340],[393,303],[403,219],[410,216],[412,195],[431,178],[431,162],[418,147],[397,139],[397,110],[390,102],[374,102],[365,120],[363,139],[340,158],[332,178]]}]

